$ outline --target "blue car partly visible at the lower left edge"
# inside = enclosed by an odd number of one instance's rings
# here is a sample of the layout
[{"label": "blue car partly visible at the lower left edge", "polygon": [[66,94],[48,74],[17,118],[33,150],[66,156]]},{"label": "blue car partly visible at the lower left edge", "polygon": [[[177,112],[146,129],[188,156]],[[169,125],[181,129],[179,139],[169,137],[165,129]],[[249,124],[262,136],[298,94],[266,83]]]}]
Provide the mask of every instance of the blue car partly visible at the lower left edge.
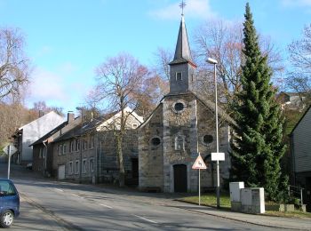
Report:
[{"label": "blue car partly visible at the lower left edge", "polygon": [[10,179],[0,179],[0,227],[11,227],[20,215],[20,195]]}]

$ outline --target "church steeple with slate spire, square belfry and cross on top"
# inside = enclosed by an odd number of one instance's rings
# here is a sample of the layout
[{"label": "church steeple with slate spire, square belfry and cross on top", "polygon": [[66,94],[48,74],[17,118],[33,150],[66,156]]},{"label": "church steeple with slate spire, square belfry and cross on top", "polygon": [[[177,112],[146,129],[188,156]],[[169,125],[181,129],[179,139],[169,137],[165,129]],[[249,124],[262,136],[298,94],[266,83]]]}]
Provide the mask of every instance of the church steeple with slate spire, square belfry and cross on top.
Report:
[{"label": "church steeple with slate spire, square belfry and cross on top", "polygon": [[174,60],[169,65],[170,69],[170,94],[186,93],[192,90],[194,84],[195,63],[192,60],[190,46],[187,39],[187,29],[184,19],[184,1],[179,25],[179,35],[175,49]]}]

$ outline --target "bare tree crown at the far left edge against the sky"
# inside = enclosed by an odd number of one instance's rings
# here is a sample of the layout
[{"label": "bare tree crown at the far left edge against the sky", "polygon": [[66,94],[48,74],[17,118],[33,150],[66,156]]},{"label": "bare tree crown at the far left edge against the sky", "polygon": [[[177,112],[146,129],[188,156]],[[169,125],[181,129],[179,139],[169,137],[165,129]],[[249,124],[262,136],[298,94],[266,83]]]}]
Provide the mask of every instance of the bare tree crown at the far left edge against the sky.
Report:
[{"label": "bare tree crown at the far left edge against the sky", "polygon": [[21,87],[28,83],[29,63],[23,48],[20,30],[0,28],[0,100],[19,95]]}]

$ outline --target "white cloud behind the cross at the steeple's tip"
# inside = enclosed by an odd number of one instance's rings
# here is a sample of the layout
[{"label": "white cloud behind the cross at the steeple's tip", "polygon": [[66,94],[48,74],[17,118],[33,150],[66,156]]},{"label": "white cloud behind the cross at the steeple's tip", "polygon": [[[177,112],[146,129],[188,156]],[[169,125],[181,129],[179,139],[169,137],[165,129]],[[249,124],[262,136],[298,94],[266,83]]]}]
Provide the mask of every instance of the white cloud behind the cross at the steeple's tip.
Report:
[{"label": "white cloud behind the cross at the steeple's tip", "polygon": [[[211,19],[217,15],[211,11],[210,0],[188,0],[186,4],[184,14],[187,18]],[[176,3],[149,13],[157,19],[174,20],[180,18],[181,9],[179,3]]]}]

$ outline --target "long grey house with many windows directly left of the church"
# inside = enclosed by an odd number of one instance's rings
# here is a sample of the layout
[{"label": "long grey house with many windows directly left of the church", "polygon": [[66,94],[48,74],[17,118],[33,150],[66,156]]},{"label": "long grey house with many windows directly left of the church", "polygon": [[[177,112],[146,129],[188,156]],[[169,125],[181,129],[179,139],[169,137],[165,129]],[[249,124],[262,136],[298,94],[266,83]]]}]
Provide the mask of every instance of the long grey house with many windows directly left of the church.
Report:
[{"label": "long grey house with many windows directly left of the church", "polygon": [[[123,142],[125,183],[138,184],[137,128],[143,122],[131,108],[125,108],[126,134]],[[52,175],[77,182],[116,182],[119,166],[114,131],[121,112],[84,121],[52,140]]]}]

